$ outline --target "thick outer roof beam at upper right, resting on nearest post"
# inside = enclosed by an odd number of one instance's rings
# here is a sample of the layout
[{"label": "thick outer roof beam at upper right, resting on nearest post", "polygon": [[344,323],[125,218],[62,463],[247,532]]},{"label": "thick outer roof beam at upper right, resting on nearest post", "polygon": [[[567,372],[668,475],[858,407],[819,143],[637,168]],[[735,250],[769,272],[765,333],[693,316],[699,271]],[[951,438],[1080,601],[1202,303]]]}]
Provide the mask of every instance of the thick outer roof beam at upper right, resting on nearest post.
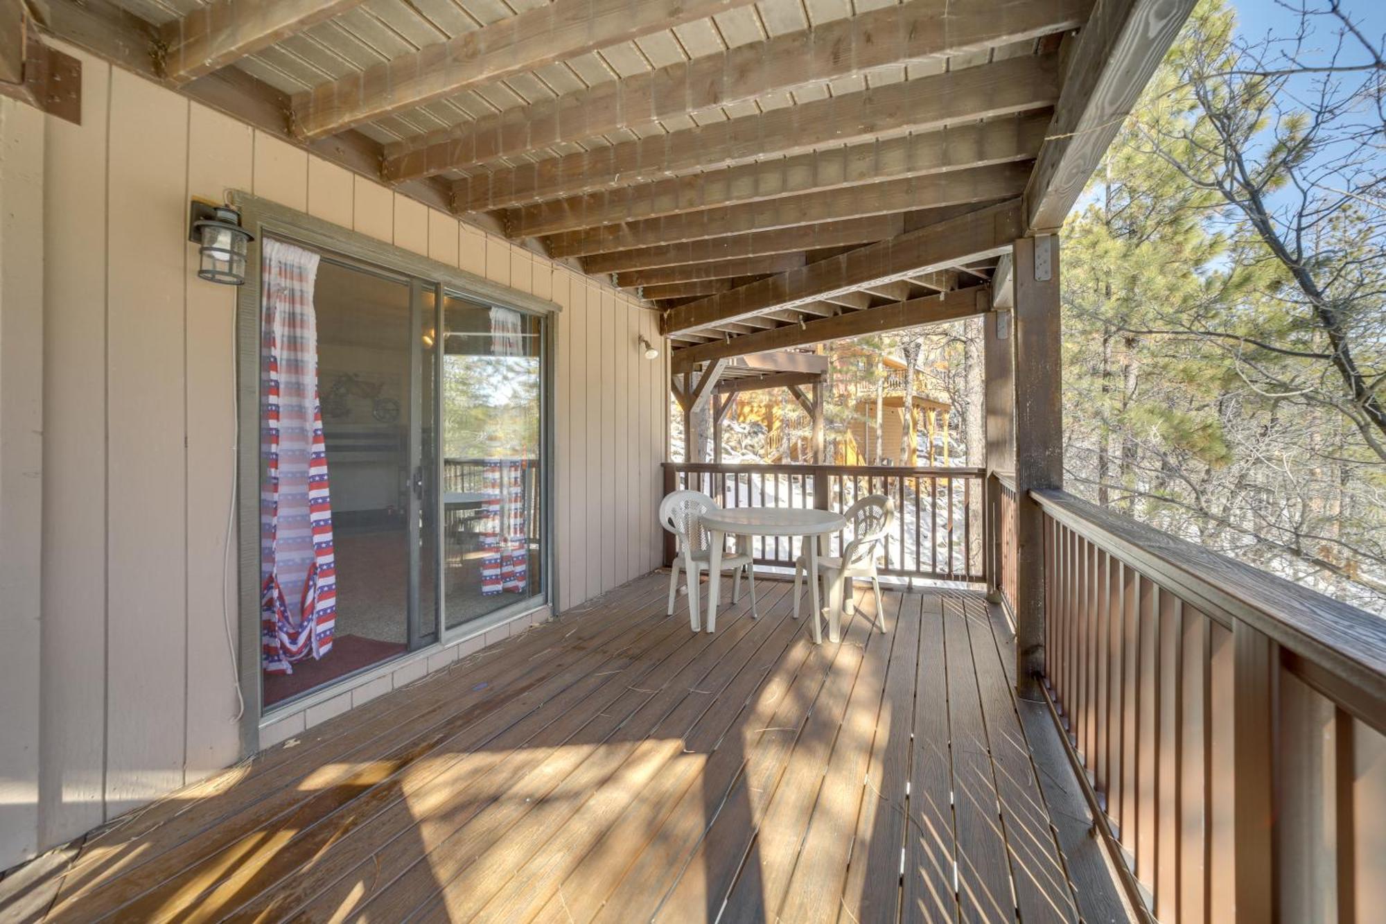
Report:
[{"label": "thick outer roof beam at upper right, resting on nearest post", "polygon": [[1063,226],[1195,3],[1098,0],[1069,55],[1053,126],[1026,190],[1028,232]]}]

